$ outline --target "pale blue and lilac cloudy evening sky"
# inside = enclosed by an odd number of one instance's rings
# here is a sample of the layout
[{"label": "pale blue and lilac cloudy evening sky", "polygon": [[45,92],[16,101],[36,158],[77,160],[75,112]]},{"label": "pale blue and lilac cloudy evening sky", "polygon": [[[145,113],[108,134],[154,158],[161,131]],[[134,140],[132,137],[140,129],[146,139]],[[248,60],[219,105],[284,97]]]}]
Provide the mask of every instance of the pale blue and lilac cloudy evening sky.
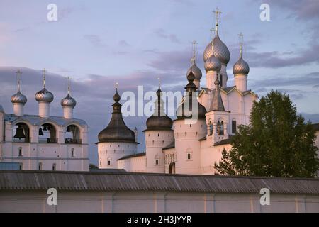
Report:
[{"label": "pale blue and lilac cloudy evening sky", "polygon": [[[261,4],[269,4],[270,21],[260,20]],[[56,4],[57,21],[48,21],[48,4]],[[53,116],[62,116],[60,100],[72,77],[77,100],[74,117],[89,124],[89,157],[96,164],[97,134],[111,118],[114,84],[119,92],[157,89],[182,91],[192,54],[203,72],[203,50],[211,40],[213,10],[222,14],[221,40],[230,50],[228,86],[239,57],[237,34],[244,33],[243,57],[250,65],[248,88],[259,96],[272,89],[286,92],[297,111],[319,122],[319,1],[316,0],[162,0],[56,1],[0,0],[0,104],[12,113],[17,70],[21,91],[28,97],[26,114],[38,114],[35,92],[42,89],[41,70],[47,70],[47,89],[55,95]],[[126,117],[138,128],[143,151],[146,117]]]}]

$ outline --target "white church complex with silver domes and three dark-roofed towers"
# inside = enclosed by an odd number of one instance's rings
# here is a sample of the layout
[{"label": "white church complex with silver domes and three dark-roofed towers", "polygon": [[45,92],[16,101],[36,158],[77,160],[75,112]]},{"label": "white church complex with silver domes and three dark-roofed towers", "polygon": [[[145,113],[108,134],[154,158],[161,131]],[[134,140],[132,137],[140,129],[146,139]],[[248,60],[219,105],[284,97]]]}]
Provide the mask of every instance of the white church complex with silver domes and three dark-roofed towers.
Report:
[{"label": "white church complex with silver domes and three dark-roofed towers", "polygon": [[[216,18],[218,18],[216,11]],[[137,153],[135,132],[128,128],[121,115],[121,97],[116,89],[111,121],[99,133],[98,154],[100,169],[124,169],[128,172],[157,172],[212,175],[214,163],[221,158],[222,150],[230,149],[230,137],[237,126],[250,121],[250,110],[258,96],[247,88],[250,67],[240,55],[233,65],[235,84],[228,84],[227,64],[230,52],[218,35],[203,52],[206,84],[201,85],[202,73],[196,66],[195,52],[191,67],[186,73],[187,95],[177,108],[177,119],[166,116],[157,90],[155,113],[146,121],[145,153]],[[191,101],[196,94],[195,103]],[[184,113],[189,101],[190,110],[197,109],[197,121],[191,123],[191,114]],[[192,107],[193,106],[193,107]]]}]

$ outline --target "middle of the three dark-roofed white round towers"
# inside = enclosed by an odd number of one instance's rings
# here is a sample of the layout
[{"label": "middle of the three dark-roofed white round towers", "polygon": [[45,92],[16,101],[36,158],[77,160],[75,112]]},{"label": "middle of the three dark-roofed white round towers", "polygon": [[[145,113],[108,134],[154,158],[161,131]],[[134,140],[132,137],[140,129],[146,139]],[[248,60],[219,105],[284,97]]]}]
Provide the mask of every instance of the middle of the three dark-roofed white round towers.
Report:
[{"label": "middle of the three dark-roofed white round towers", "polygon": [[147,118],[145,133],[146,143],[146,172],[164,172],[165,160],[162,148],[174,140],[172,119],[164,112],[164,101],[160,84],[157,89],[155,111]]}]

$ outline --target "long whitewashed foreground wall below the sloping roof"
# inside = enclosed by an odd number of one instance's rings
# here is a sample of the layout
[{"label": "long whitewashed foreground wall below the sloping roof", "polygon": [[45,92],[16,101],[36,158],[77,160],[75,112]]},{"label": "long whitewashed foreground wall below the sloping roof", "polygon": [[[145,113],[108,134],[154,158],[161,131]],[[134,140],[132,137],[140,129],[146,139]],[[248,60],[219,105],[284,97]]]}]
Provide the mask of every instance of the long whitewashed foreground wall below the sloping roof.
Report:
[{"label": "long whitewashed foreground wall below the sloping roof", "polygon": [[259,194],[185,192],[59,192],[57,206],[47,205],[46,191],[1,192],[0,212],[319,212],[319,196],[270,194],[270,205]]}]

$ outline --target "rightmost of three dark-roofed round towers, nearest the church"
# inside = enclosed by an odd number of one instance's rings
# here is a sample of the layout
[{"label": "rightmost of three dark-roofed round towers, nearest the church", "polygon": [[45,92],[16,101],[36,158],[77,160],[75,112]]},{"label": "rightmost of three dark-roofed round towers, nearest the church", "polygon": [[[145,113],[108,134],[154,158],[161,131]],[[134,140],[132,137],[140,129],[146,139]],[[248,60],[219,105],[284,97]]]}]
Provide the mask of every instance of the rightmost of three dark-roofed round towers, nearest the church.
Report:
[{"label": "rightmost of three dark-roofed round towers, nearest the church", "polygon": [[174,139],[177,157],[175,172],[178,174],[200,174],[201,138],[206,135],[206,109],[197,101],[194,74],[189,72],[186,85],[186,96],[177,108],[177,119],[174,121]]}]

